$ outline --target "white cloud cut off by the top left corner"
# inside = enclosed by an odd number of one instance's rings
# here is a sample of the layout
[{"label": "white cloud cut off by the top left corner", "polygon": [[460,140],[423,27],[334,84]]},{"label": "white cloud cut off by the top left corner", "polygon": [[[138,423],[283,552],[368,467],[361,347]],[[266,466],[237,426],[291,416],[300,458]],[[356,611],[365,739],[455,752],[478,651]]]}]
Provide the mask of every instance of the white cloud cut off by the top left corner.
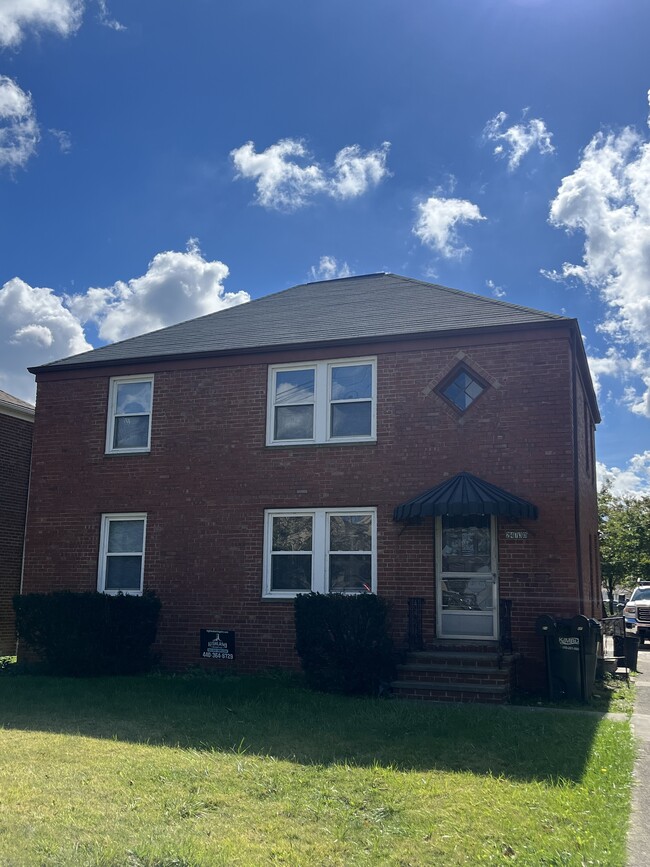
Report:
[{"label": "white cloud cut off by the top left corner", "polygon": [[83,0],[2,0],[0,48],[19,45],[29,31],[70,36],[81,25]]}]

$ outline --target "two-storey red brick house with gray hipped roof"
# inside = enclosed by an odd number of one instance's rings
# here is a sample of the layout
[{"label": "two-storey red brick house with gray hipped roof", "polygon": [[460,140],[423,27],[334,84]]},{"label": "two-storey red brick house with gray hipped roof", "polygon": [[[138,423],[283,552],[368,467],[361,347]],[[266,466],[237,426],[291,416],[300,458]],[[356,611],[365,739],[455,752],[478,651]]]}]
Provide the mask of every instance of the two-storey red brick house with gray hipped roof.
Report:
[{"label": "two-storey red brick house with gray hipped roof", "polygon": [[[24,590],[155,590],[171,668],[295,667],[295,594],[372,590],[398,646],[490,661],[472,692],[416,659],[411,694],[495,698],[511,649],[541,684],[540,613],[599,613],[574,319],[371,274],[33,372]],[[202,659],[205,629],[232,661]]]}]

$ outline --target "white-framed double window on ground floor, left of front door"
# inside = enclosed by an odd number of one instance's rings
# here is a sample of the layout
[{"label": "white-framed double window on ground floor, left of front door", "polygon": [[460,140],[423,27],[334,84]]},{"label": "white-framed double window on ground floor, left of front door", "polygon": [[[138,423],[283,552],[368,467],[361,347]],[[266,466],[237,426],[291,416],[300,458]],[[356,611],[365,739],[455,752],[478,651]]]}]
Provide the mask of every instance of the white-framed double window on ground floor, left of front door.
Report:
[{"label": "white-framed double window on ground floor, left of front door", "polygon": [[265,512],[263,596],[375,593],[374,508],[273,509]]}]

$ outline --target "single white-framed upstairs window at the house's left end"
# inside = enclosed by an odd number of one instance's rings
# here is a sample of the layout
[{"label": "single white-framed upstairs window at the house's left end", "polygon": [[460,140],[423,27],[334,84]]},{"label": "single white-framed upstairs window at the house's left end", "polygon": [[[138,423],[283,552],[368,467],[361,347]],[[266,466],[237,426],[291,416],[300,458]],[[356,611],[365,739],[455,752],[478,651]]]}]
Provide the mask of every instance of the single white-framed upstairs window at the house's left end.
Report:
[{"label": "single white-framed upstairs window at the house's left end", "polygon": [[107,454],[149,451],[152,406],[153,376],[115,376],[111,379]]}]

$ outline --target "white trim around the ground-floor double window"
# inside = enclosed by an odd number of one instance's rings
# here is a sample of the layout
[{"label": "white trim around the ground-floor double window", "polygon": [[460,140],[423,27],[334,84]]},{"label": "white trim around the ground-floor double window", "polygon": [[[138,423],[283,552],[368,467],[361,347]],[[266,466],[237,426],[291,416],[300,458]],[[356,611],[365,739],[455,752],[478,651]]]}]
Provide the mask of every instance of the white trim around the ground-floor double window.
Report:
[{"label": "white trim around the ground-floor double window", "polygon": [[[273,518],[309,515],[312,518],[312,574],[310,590],[272,590],[271,589],[271,546],[273,544]],[[349,509],[266,509],[264,512],[264,567],[262,598],[295,599],[302,593],[329,593],[329,519],[338,515],[371,515],[371,567],[370,590],[377,592],[377,509],[373,506]],[[359,552],[361,553],[361,552]],[[337,591],[339,592],[339,591]],[[354,595],[361,591],[347,590]]]}]

